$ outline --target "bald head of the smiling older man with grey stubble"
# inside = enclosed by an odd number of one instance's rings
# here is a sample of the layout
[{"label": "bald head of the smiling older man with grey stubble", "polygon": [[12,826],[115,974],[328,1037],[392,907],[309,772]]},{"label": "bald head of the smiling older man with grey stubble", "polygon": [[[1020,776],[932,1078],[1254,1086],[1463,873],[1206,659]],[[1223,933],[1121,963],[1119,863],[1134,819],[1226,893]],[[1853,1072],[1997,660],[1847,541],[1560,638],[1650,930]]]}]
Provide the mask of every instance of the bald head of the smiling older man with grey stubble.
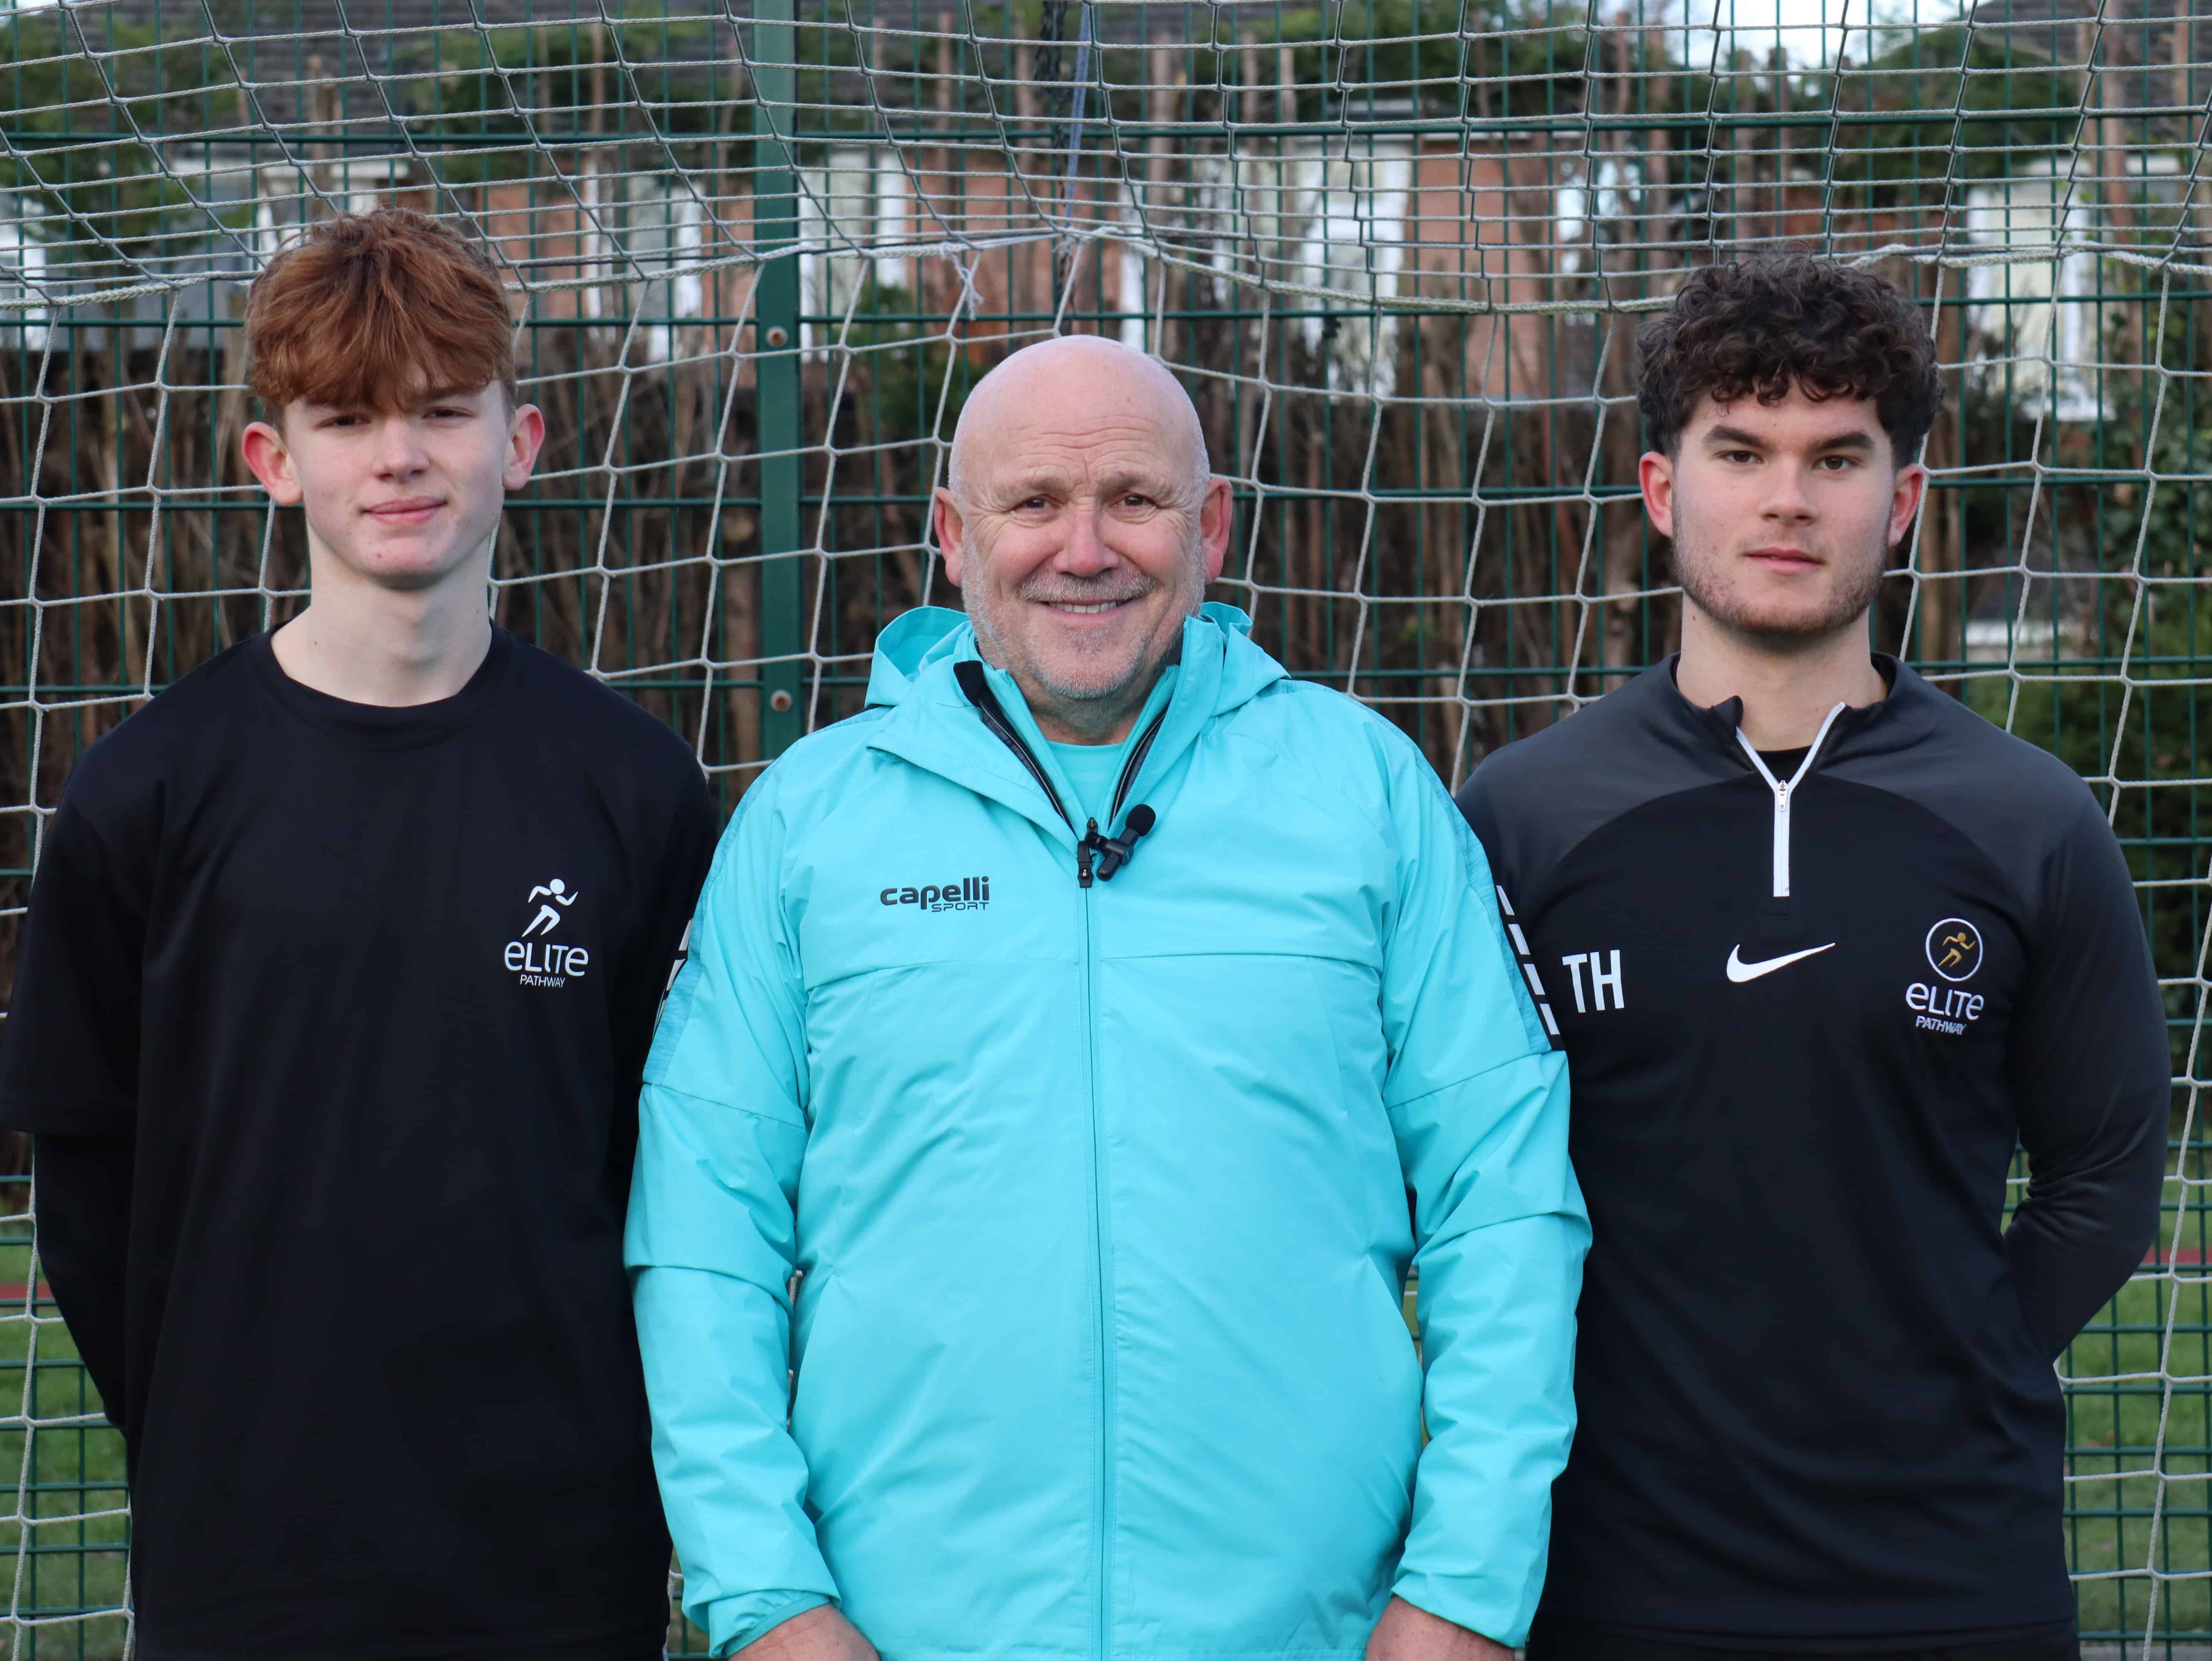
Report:
[{"label": "bald head of the smiling older man with grey stubble", "polygon": [[1197,414],[1126,347],[1031,347],[978,387],[938,544],[982,655],[1051,739],[1126,732],[1228,551]]}]

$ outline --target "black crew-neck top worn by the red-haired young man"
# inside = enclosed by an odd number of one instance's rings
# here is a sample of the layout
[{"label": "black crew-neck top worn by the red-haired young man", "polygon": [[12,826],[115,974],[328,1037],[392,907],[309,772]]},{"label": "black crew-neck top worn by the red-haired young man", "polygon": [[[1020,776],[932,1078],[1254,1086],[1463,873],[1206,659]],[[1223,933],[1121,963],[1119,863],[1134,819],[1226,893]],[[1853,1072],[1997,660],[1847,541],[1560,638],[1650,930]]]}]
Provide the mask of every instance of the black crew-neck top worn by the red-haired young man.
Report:
[{"label": "black crew-neck top worn by the red-haired young man", "polygon": [[504,630],[400,710],[254,637],[84,754],[0,1121],[144,1661],[661,1652],[622,1219],[712,840],[681,739]]}]

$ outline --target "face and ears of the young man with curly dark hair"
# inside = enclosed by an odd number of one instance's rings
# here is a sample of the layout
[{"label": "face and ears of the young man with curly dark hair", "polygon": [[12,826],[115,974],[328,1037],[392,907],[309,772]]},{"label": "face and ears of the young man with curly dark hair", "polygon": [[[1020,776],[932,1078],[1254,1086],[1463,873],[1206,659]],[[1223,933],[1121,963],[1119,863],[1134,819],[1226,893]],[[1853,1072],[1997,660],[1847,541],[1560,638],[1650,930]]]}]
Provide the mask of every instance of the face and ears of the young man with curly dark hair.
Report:
[{"label": "face and ears of the young man with curly dark hair", "polygon": [[1783,648],[1867,613],[1927,484],[1922,467],[1896,464],[1874,403],[1796,387],[1776,405],[1703,398],[1677,453],[1652,451],[1641,471],[1690,604]]}]

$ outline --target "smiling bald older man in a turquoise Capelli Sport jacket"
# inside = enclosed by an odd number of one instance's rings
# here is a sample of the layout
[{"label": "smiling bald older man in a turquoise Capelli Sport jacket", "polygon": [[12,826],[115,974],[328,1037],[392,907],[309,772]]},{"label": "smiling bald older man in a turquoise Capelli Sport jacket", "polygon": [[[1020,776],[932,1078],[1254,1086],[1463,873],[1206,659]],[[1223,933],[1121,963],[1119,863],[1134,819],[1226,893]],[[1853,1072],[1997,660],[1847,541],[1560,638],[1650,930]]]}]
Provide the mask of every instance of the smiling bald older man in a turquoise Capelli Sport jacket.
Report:
[{"label": "smiling bald older man in a turquoise Capelli Sport jacket", "polygon": [[745,794],[646,1066],[686,1612],[779,1661],[1504,1654],[1588,1232],[1482,849],[1201,606],[1230,489],[1155,361],[1013,354],[936,533],[967,617]]}]

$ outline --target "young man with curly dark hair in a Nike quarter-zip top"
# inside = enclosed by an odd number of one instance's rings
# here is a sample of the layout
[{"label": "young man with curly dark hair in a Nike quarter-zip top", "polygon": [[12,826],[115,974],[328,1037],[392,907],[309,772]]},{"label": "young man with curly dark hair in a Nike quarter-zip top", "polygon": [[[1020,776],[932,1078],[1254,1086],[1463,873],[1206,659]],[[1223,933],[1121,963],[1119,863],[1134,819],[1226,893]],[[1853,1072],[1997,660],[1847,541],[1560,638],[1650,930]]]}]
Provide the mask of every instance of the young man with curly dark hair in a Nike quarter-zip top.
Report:
[{"label": "young man with curly dark hair in a Nike quarter-zip top", "polygon": [[1595,1234],[1531,1661],[2079,1648],[2053,1358],[2152,1239],[2170,1059],[2095,796],[1871,650],[1940,398],[1871,272],[1690,276],[1641,338],[1681,655],[1460,796]]}]

